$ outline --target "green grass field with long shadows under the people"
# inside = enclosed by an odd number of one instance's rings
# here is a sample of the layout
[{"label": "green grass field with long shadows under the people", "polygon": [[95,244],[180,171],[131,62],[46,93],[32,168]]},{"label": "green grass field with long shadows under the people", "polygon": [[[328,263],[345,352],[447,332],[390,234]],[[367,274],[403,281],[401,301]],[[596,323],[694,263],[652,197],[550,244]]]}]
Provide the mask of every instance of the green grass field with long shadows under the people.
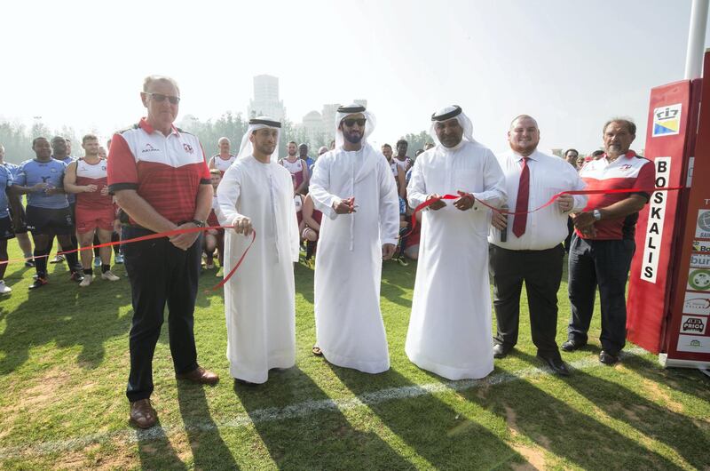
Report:
[{"label": "green grass field with long shadows under the people", "polygon": [[[16,243],[10,246],[17,257]],[[599,364],[598,312],[590,346],[564,354],[578,367],[569,379],[538,370],[525,294],[520,343],[496,360],[488,380],[446,387],[419,370],[404,353],[414,263],[385,263],[392,367],[375,376],[311,354],[312,269],[297,265],[296,367],[272,371],[258,387],[233,386],[223,299],[205,291],[217,283],[214,271],[205,272],[195,337],[201,365],[222,380],[217,387],[177,383],[164,328],[153,395],[162,427],[138,433],[127,423],[124,396],[128,280],[80,290],[65,266],[51,270],[50,284],[37,292],[27,290],[31,269],[12,265],[5,276],[14,291],[0,300],[3,469],[710,469],[710,381],[698,371],[663,370],[643,352],[615,367]],[[121,266],[114,271],[125,275]],[[560,341],[566,289],[563,283]],[[428,393],[422,385],[438,388]],[[417,394],[388,399],[382,391],[389,388]]]}]

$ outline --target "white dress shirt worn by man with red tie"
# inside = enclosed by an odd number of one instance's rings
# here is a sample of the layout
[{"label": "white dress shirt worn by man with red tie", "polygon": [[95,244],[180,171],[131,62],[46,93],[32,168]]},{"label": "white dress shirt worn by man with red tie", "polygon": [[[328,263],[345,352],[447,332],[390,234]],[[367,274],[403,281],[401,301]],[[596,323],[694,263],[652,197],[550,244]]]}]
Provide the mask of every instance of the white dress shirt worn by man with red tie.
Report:
[{"label": "white dress shirt worn by man with red tie", "polygon": [[[508,193],[509,212],[515,212],[517,187],[523,170],[523,156],[514,151],[498,156],[498,163],[505,173],[505,188]],[[546,204],[557,193],[584,189],[587,184],[564,159],[547,156],[535,150],[528,156],[530,168],[530,196],[528,211]],[[557,203],[527,215],[525,234],[513,234],[515,216],[508,216],[508,240],[501,242],[501,231],[491,228],[488,242],[513,251],[542,251],[555,247],[567,237],[567,217],[570,212],[580,212],[587,205],[587,196],[574,195],[574,205],[569,212],[562,212]]]}]

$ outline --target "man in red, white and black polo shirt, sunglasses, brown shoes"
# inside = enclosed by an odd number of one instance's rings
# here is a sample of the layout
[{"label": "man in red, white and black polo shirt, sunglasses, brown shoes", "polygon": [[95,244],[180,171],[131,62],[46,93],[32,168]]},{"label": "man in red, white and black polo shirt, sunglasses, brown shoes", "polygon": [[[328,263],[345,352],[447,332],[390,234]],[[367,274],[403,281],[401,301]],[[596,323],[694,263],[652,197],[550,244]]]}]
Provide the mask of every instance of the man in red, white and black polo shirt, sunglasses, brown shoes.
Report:
[{"label": "man in red, white and black polo shirt, sunglasses, brown shoes", "polygon": [[[122,240],[176,228],[204,227],[212,186],[200,141],[173,126],[180,91],[170,77],[148,76],[140,93],[147,117],[117,132],[108,159],[108,186],[128,216]],[[200,275],[201,235],[189,233],[122,246],[133,300],[130,419],[152,427],[157,414],[153,354],[168,304],[170,353],[178,379],[215,384],[216,374],[197,364],[193,311]]]}]

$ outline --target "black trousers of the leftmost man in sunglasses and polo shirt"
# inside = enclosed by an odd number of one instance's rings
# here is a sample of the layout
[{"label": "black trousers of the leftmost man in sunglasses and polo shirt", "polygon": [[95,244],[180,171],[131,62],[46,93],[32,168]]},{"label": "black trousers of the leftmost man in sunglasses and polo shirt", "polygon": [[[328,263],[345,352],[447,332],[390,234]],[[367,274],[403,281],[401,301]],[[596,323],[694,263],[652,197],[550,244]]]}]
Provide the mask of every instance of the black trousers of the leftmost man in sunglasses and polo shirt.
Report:
[{"label": "black trousers of the leftmost man in sunglasses and polo shirt", "polygon": [[[152,233],[143,228],[122,228],[122,240],[147,234]],[[153,392],[153,355],[166,303],[175,371],[184,373],[198,367],[193,312],[201,247],[201,238],[198,238],[192,247],[182,251],[166,237],[121,246],[133,301],[130,375],[126,389],[130,402],[146,399]]]}]

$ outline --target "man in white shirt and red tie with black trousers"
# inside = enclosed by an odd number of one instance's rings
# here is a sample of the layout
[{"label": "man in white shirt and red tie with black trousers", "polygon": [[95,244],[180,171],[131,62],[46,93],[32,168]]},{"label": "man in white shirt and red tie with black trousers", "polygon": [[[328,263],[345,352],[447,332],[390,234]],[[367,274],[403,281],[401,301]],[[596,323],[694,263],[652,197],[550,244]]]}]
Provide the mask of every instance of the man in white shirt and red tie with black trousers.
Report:
[{"label": "man in white shirt and red tie with black trousers", "polygon": [[[493,307],[498,331],[493,356],[503,358],[517,344],[520,292],[525,282],[530,327],[537,356],[556,374],[569,375],[556,343],[557,290],[562,279],[567,217],[587,204],[586,196],[563,195],[555,204],[526,213],[547,203],[562,191],[580,190],[585,183],[564,160],[537,150],[540,129],[531,116],[510,123],[510,152],[498,156],[505,173],[509,207],[515,216],[493,212],[488,237],[493,276]],[[512,224],[509,224],[512,220]]]}]

